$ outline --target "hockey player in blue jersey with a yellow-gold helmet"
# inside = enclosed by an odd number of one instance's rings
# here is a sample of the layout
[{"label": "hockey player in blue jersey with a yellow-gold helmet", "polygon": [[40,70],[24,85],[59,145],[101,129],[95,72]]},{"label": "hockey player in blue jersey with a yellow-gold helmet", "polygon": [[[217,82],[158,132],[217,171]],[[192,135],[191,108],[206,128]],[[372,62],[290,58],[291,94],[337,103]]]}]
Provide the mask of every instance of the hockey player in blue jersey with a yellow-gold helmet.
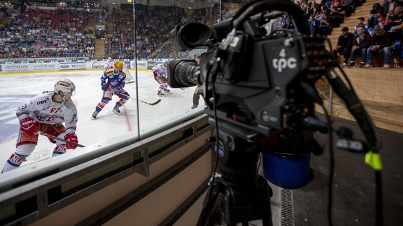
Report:
[{"label": "hockey player in blue jersey with a yellow-gold helmet", "polygon": [[120,113],[119,107],[129,100],[129,93],[123,88],[125,87],[126,74],[123,70],[123,62],[114,62],[114,68],[106,70],[101,79],[102,100],[96,106],[95,111],[92,113],[91,120],[95,120],[98,113],[112,100],[112,95],[117,95],[120,99],[116,102],[112,111],[116,114]]}]

